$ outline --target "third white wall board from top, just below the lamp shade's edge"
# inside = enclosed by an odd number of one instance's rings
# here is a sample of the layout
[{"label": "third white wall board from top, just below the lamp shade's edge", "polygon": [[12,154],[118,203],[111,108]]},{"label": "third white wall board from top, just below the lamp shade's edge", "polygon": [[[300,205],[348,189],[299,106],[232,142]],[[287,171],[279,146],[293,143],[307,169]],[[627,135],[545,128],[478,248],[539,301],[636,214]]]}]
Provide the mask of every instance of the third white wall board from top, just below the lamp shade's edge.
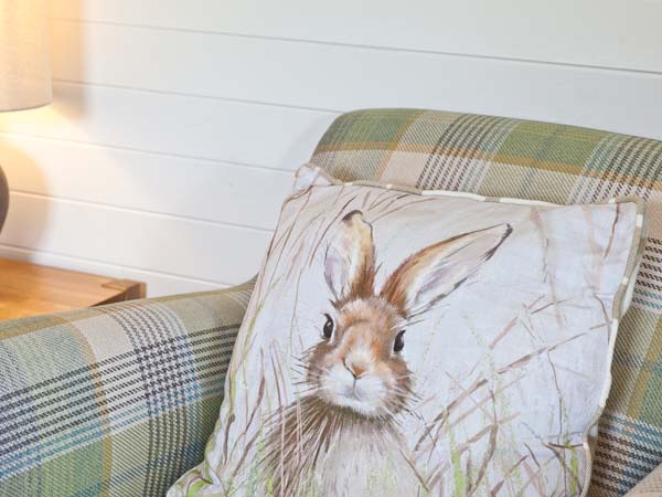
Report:
[{"label": "third white wall board from top, just below the lamp shade's edge", "polygon": [[293,170],[332,113],[56,83],[54,102],[0,113],[0,131]]}]

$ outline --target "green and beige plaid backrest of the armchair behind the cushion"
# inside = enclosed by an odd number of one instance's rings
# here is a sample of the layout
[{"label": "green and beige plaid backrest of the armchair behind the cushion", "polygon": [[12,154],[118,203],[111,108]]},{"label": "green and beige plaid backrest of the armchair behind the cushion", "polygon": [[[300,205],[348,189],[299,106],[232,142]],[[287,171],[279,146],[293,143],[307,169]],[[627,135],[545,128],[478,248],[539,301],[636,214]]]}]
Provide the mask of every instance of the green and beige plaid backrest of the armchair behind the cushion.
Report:
[{"label": "green and beige plaid backrest of the armchair behind the cushion", "polygon": [[619,330],[589,496],[622,496],[662,463],[661,141],[501,117],[374,109],[340,116],[311,161],[342,181],[562,204],[645,199],[649,240]]}]

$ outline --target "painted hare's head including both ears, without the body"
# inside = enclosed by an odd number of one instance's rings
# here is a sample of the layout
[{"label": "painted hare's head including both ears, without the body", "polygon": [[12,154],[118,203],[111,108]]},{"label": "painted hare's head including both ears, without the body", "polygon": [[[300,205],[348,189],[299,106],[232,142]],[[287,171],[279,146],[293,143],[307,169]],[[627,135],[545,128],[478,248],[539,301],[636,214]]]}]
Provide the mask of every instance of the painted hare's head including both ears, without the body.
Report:
[{"label": "painted hare's head including both ears, without the body", "polygon": [[456,290],[511,234],[509,224],[460,234],[407,257],[375,289],[372,225],[361,211],[339,223],[324,260],[333,310],[307,358],[306,382],[331,408],[369,419],[401,412],[413,398],[402,355],[407,322]]}]

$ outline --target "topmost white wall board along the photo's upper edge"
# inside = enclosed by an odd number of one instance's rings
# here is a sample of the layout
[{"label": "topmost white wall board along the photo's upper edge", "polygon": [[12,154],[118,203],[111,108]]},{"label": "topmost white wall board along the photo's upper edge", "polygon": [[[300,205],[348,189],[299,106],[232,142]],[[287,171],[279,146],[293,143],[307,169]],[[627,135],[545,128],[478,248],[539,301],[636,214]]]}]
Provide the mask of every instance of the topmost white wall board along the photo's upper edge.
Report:
[{"label": "topmost white wall board along the photo's upper edge", "polygon": [[53,0],[52,15],[662,72],[655,0]]}]

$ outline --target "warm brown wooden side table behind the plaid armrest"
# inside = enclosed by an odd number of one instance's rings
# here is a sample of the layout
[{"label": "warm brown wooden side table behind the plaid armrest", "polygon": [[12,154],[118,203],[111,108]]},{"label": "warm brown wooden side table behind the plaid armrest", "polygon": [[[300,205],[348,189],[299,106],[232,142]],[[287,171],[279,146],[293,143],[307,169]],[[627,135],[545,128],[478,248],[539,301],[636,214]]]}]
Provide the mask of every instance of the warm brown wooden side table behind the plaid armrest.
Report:
[{"label": "warm brown wooden side table behind the plaid armrest", "polygon": [[0,257],[0,320],[143,298],[145,283]]}]

